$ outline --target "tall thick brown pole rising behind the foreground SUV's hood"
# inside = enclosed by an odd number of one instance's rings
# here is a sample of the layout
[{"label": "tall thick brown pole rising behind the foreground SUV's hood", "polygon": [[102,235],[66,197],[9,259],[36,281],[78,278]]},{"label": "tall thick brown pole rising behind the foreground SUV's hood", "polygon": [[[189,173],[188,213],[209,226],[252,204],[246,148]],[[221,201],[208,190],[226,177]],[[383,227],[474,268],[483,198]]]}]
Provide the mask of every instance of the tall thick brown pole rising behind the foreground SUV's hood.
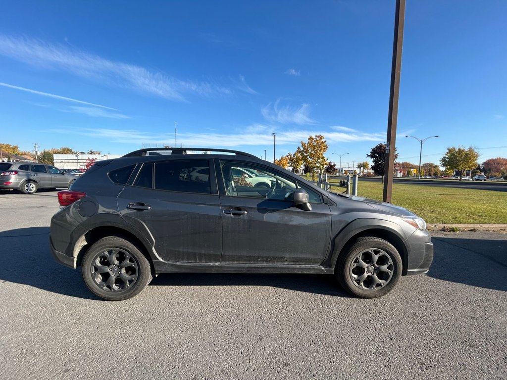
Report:
[{"label": "tall thick brown pole rising behind the foreground SUV's hood", "polygon": [[389,92],[389,115],[387,119],[387,146],[385,149],[385,182],[382,200],[391,203],[394,153],[396,150],[396,122],[400,98],[402,72],[403,27],[405,24],[405,0],[396,0],[394,16],[394,39],[392,44],[391,89]]}]

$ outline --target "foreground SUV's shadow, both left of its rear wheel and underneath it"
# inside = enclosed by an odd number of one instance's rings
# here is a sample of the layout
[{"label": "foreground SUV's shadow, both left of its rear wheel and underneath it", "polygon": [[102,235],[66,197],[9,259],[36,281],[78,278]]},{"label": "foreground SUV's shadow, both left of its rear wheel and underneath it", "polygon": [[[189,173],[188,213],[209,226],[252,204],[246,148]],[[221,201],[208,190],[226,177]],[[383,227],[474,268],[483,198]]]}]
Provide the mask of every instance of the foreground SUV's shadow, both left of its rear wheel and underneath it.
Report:
[{"label": "foreground SUV's shadow, both left of its rear wheel and underneath it", "polygon": [[[72,297],[99,299],[86,287],[81,270],[58,264],[49,249],[49,227],[0,232],[0,281],[33,286]],[[349,297],[330,275],[169,273],[158,286],[272,286],[302,292]]]}]

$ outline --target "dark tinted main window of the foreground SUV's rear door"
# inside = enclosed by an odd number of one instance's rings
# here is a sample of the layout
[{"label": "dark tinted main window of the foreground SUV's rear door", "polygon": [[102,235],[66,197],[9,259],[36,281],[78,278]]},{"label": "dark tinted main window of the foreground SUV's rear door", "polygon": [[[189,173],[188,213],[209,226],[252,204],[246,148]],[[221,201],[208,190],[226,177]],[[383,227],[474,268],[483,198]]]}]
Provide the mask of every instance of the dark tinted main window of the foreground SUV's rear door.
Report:
[{"label": "dark tinted main window of the foreground SUV's rear door", "polygon": [[155,188],[171,192],[211,194],[209,161],[175,160],[155,163]]}]

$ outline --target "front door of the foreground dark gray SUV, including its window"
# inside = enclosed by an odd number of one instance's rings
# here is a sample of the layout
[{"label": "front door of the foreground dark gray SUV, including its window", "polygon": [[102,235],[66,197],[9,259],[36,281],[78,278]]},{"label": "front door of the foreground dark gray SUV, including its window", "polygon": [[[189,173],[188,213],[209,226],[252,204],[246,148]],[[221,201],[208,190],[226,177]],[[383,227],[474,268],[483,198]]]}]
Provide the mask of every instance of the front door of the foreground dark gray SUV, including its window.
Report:
[{"label": "front door of the foreground dark gray SUV, including its window", "polygon": [[[270,188],[237,178],[231,169],[259,173]],[[331,240],[331,210],[318,192],[263,165],[221,161],[224,249],[222,263],[320,264]],[[222,180],[222,179],[221,179]],[[311,211],[294,205],[291,194],[303,187]]]}]

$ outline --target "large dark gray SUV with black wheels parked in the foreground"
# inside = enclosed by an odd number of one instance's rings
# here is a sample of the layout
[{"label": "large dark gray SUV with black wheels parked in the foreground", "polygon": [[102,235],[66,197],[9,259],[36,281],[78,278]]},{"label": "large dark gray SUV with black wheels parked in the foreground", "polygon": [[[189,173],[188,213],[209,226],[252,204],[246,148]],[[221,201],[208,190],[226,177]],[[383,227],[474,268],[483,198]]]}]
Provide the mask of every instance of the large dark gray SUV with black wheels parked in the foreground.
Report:
[{"label": "large dark gray SUV with black wheels parked in the foreground", "polygon": [[137,150],[95,163],[58,193],[53,256],[81,266],[99,297],[133,297],[161,273],[211,272],[334,274],[351,294],[374,298],[402,275],[428,272],[433,245],[410,211],[324,191],[239,151],[186,149],[211,154]]}]

